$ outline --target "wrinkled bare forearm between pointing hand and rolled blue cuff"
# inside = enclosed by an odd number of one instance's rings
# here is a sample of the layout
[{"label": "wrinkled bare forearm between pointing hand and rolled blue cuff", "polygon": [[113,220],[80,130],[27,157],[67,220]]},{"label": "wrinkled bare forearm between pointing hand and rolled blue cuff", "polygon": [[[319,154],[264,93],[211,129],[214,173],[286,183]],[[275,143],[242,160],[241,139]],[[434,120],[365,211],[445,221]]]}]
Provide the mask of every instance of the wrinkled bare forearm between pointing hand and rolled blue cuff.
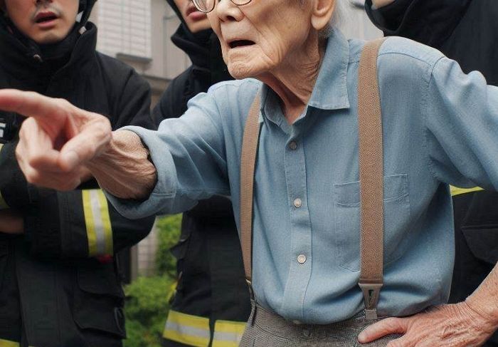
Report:
[{"label": "wrinkled bare forearm between pointing hand and rolled blue cuff", "polygon": [[103,190],[121,199],[144,200],[157,182],[149,151],[138,135],[127,130],[112,132],[107,150],[87,166]]}]

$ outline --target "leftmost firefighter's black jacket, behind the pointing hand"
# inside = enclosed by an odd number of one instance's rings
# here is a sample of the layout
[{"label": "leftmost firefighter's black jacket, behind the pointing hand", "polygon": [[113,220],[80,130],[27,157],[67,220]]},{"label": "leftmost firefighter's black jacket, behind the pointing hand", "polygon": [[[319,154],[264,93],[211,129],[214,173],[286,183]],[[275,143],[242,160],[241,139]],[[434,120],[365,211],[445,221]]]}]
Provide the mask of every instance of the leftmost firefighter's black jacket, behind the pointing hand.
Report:
[{"label": "leftmost firefighter's black jacket, behind the pointing hand", "polygon": [[[107,115],[113,129],[152,127],[147,83],[132,68],[97,53],[97,29],[86,27],[69,57],[43,61],[0,26],[0,88],[64,98]],[[154,218],[121,217],[95,181],[72,192],[27,185],[15,146],[14,139],[1,147],[0,192],[8,207],[23,214],[25,234],[0,234],[0,341],[122,346],[123,291],[112,256],[144,238]]]}]

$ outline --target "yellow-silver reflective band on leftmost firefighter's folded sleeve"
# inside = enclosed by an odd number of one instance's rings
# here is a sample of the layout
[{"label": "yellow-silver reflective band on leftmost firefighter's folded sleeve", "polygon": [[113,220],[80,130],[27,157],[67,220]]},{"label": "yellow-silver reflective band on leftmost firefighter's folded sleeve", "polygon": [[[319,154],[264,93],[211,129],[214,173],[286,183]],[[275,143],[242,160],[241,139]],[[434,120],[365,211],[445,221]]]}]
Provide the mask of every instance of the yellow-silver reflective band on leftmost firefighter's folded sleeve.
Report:
[{"label": "yellow-silver reflective band on leftmost firefighter's folded sleeve", "polygon": [[83,190],[83,213],[90,257],[112,255],[112,227],[109,205],[102,190]]}]

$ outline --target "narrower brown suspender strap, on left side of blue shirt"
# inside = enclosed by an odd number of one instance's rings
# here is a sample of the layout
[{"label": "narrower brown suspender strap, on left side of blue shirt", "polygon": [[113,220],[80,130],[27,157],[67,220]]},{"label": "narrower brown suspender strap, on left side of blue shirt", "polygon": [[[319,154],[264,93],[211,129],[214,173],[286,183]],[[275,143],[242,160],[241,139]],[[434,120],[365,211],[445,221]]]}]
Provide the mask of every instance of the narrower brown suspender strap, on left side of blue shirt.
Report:
[{"label": "narrower brown suspender strap, on left side of blue shirt", "polygon": [[[245,280],[253,280],[253,187],[256,155],[260,138],[260,93],[256,95],[245,121],[242,155],[240,157],[240,244]],[[252,289],[251,289],[252,290]]]}]

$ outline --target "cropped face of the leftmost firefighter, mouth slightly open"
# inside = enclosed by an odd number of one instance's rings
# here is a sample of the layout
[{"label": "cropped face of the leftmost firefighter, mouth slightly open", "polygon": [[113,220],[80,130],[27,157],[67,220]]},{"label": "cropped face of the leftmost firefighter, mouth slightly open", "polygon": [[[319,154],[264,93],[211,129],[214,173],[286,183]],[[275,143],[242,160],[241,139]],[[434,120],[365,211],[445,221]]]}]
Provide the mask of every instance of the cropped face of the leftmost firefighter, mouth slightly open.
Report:
[{"label": "cropped face of the leftmost firefighter, mouth slightly open", "polygon": [[0,0],[6,14],[36,43],[56,43],[68,36],[78,15],[78,0]]}]

